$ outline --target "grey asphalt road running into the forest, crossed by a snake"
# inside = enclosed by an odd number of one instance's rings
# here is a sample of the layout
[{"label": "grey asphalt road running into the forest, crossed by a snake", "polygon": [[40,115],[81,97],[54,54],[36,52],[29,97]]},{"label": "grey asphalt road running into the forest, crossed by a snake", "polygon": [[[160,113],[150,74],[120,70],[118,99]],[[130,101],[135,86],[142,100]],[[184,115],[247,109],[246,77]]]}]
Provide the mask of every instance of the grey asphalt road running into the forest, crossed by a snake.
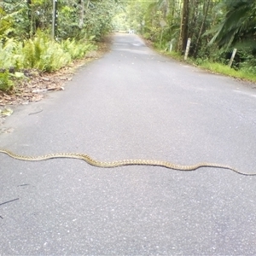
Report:
[{"label": "grey asphalt road running into the forest, crossed by a snake", "polygon": [[[211,161],[256,172],[252,87],[118,34],[112,50],[82,67],[66,90],[17,108],[0,148]],[[0,163],[1,255],[256,254],[256,177],[4,154]]]}]

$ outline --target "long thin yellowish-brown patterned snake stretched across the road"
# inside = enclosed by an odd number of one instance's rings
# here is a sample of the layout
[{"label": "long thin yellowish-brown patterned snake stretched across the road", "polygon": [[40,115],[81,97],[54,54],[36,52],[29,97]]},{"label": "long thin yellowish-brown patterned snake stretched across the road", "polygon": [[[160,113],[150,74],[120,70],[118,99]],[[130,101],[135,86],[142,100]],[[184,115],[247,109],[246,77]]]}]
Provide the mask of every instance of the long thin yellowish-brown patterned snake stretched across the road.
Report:
[{"label": "long thin yellowish-brown patterned snake stretched across the road", "polygon": [[241,175],[245,176],[256,176],[256,173],[246,173],[237,170],[234,167],[216,164],[216,163],[208,163],[208,162],[201,162],[195,165],[190,166],[182,166],[173,164],[168,161],[162,160],[116,160],[116,161],[99,161],[95,160],[90,157],[88,154],[79,154],[79,153],[55,153],[55,154],[44,154],[40,156],[29,156],[29,155],[20,155],[15,154],[7,149],[0,148],[0,153],[8,154],[10,157],[17,159],[17,160],[26,160],[26,161],[41,161],[41,160],[49,160],[55,158],[73,158],[84,160],[90,166],[102,167],[102,168],[113,168],[119,166],[161,166],[166,167],[168,169],[177,170],[177,171],[195,171],[201,167],[212,167],[212,168],[222,168],[222,169],[229,169],[230,171],[236,172]]}]

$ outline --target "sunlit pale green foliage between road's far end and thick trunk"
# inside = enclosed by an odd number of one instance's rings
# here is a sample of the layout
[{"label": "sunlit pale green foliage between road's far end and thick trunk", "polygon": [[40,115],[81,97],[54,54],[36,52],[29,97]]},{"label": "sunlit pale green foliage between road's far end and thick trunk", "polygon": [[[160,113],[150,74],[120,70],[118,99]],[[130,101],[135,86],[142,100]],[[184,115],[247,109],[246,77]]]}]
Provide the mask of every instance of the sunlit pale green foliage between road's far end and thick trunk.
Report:
[{"label": "sunlit pale green foliage between road's far end and thick trunk", "polygon": [[[177,44],[179,38],[180,11],[180,3],[177,1],[138,2],[132,0],[126,8],[125,20],[129,28],[135,28],[137,32],[143,34],[144,38],[150,39],[158,47],[166,47],[170,41],[175,47],[174,43]],[[163,20],[166,26],[161,27],[160,22]]]}]

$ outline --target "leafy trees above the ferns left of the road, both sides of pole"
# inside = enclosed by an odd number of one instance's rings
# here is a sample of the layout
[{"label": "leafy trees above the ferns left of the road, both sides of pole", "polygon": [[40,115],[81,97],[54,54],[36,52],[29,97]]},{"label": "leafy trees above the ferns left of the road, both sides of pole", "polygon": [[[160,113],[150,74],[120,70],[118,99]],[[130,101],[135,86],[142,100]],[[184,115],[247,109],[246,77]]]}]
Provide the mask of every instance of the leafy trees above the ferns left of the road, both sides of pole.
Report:
[{"label": "leafy trees above the ferns left of the road, both sides of pole", "polygon": [[[96,36],[96,39],[112,30],[112,17],[119,5],[114,0],[59,0],[57,4],[57,38],[77,40]],[[0,35],[33,38],[40,29],[51,32],[52,0],[0,1]],[[1,36],[0,36],[1,38]]]}]

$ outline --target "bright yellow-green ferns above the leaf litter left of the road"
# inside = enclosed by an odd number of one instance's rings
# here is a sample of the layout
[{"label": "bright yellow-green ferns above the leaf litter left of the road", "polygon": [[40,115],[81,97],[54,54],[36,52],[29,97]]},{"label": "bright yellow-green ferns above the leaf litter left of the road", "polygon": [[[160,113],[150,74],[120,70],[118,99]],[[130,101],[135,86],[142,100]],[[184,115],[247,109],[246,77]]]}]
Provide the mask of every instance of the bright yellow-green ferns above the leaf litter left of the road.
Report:
[{"label": "bright yellow-green ferns above the leaf litter left of the road", "polygon": [[90,41],[67,39],[56,42],[44,32],[38,31],[34,38],[23,42],[15,38],[0,40],[0,90],[13,88],[9,69],[19,71],[36,68],[42,72],[54,72],[73,60],[83,58],[96,46]]}]

